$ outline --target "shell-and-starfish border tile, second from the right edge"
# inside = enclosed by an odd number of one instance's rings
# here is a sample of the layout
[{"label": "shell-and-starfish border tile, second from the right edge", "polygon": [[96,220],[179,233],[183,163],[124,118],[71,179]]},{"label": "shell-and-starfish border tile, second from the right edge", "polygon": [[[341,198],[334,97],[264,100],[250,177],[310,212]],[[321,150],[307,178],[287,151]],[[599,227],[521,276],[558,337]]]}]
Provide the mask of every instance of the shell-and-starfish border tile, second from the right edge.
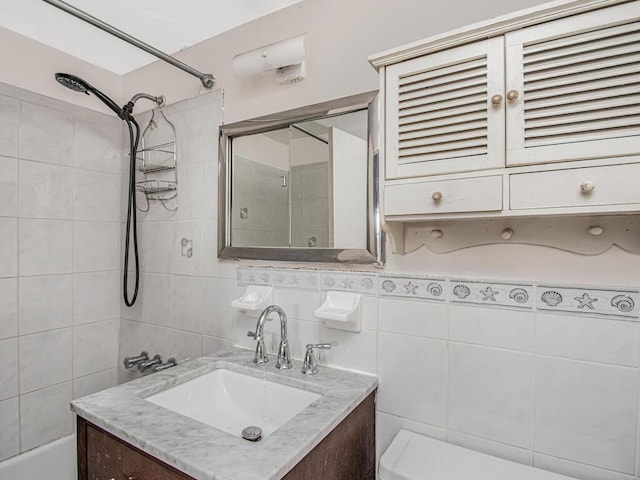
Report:
[{"label": "shell-and-starfish border tile, second from the right edge", "polygon": [[534,306],[534,288],[532,284],[451,279],[449,288],[449,297],[453,303],[473,303],[476,305],[525,309],[532,309]]}]

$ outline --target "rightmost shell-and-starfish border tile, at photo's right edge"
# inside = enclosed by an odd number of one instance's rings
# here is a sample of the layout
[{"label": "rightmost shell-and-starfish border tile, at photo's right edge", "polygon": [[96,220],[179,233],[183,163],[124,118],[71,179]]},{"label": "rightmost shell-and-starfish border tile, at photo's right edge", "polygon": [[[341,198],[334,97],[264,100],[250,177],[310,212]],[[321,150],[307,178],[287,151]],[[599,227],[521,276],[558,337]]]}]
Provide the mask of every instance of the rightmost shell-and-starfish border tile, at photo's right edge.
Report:
[{"label": "rightmost shell-and-starfish border tile, at photo's right edge", "polygon": [[634,290],[538,285],[539,310],[637,319],[639,302],[640,292]]}]

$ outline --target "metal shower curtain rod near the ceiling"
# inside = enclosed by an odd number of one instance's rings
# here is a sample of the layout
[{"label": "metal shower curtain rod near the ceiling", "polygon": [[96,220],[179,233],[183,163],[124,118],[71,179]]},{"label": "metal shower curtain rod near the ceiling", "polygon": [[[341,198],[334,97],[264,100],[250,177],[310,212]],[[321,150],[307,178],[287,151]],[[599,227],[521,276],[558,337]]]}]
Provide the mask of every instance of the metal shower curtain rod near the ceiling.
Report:
[{"label": "metal shower curtain rod near the ceiling", "polygon": [[215,77],[210,73],[199,72],[198,70],[187,65],[186,63],[183,63],[180,60],[173,58],[171,55],[167,55],[166,53],[158,50],[157,48],[154,48],[151,45],[144,43],[143,41],[138,40],[135,37],[132,37],[128,33],[125,33],[122,30],[118,30],[112,25],[109,25],[108,23],[103,22],[99,18],[89,15],[87,12],[80,10],[79,8],[76,8],[73,5],[69,5],[68,3],[63,2],[62,0],[43,0],[43,1],[53,7],[59,8],[60,10],[63,10],[73,15],[76,18],[79,18],[80,20],[90,23],[91,25],[99,28],[100,30],[110,33],[115,37],[118,37],[120,40],[124,40],[125,42],[130,43],[134,47],[138,47],[140,50],[144,50],[145,52],[150,53],[151,55],[159,58],[160,60],[164,60],[165,62],[170,63],[174,67],[177,67],[180,70],[183,70],[193,75],[194,77],[199,78],[200,81],[202,82],[202,86],[205,88],[213,88],[214,85],[216,84]]}]

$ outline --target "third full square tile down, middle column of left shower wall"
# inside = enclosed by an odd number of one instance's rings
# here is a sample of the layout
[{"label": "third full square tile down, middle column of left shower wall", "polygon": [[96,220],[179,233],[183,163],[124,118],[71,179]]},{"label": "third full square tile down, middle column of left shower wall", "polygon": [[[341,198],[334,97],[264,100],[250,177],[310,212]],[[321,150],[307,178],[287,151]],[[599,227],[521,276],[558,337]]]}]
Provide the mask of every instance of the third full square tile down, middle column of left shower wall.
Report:
[{"label": "third full square tile down, middle column of left shower wall", "polygon": [[73,222],[20,220],[20,274],[71,272]]}]

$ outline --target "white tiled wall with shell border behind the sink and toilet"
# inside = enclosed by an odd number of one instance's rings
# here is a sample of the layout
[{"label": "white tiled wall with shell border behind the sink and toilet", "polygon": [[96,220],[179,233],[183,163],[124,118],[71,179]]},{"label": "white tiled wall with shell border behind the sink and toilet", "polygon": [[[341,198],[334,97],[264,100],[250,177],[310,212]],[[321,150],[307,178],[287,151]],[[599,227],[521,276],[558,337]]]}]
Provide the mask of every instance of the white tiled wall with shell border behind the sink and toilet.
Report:
[{"label": "white tiled wall with shell border behind the sink and toilet", "polygon": [[[639,478],[637,289],[239,268],[239,293],[251,284],[273,286],[295,357],[329,342],[322,363],[379,376],[379,452],[406,428],[577,478]],[[362,295],[360,333],[314,317],[330,290]],[[254,326],[238,317],[238,344]]]}]

